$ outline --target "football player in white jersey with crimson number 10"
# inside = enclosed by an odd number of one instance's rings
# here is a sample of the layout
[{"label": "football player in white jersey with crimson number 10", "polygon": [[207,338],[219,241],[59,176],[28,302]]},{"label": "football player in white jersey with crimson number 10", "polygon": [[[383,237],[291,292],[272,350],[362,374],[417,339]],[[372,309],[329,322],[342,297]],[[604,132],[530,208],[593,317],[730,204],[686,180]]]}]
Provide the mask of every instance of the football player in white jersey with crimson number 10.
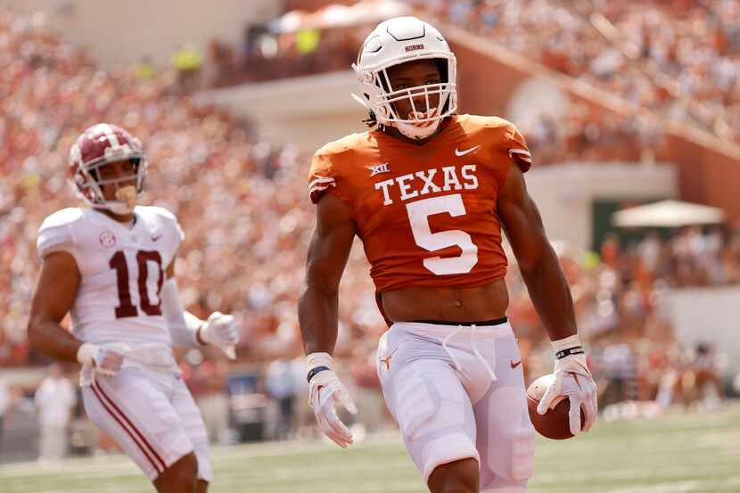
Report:
[{"label": "football player in white jersey with crimson number 10", "polygon": [[[89,207],[59,210],[38,231],[42,259],[29,341],[82,364],[90,419],[118,441],[160,493],[204,492],[208,440],[172,345],[213,344],[234,357],[234,317],[186,312],[174,277],[184,234],[160,207],[136,205],[146,175],[141,143],[109,124],[70,152],[70,179]],[[60,323],[70,313],[71,333]]]}]

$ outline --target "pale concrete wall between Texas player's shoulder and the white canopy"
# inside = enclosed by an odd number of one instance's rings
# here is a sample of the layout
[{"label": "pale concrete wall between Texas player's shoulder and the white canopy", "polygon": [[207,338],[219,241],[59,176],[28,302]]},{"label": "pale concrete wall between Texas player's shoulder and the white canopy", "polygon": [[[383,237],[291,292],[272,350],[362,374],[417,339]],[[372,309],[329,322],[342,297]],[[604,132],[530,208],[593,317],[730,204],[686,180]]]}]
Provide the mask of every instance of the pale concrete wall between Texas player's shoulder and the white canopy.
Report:
[{"label": "pale concrete wall between Texas player's shoulder and the white canopy", "polygon": [[525,175],[551,241],[591,248],[593,201],[675,197],[678,173],[670,165],[579,163],[533,167]]}]

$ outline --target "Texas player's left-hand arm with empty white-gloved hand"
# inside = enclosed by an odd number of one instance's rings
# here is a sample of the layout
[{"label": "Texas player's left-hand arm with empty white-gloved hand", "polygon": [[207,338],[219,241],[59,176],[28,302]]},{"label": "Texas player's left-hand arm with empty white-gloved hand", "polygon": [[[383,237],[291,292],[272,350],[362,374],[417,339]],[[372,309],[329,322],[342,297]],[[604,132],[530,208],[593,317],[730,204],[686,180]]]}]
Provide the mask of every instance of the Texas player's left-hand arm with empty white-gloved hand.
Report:
[{"label": "Texas player's left-hand arm with empty white-gloved hand", "polygon": [[349,208],[326,194],[317,206],[317,224],[308,247],[306,279],[298,317],[308,368],[308,399],[325,435],[341,448],[352,443],[349,429],[336,414],[337,405],[356,413],[349,393],[334,373],[331,353],[337,339],[339,283],[356,234]]}]

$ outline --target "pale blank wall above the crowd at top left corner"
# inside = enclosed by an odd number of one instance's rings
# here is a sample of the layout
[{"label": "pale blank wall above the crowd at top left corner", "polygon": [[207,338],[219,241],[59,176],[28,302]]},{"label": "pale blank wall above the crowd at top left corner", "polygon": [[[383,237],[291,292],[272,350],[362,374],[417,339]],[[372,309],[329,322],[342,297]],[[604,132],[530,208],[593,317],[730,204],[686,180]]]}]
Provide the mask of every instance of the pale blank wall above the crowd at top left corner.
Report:
[{"label": "pale blank wall above the crowd at top left corner", "polygon": [[273,19],[282,11],[276,0],[0,0],[16,12],[46,12],[64,39],[89,49],[110,69],[149,56],[169,63],[178,46],[193,43],[206,53],[218,37],[239,43],[246,25]]}]

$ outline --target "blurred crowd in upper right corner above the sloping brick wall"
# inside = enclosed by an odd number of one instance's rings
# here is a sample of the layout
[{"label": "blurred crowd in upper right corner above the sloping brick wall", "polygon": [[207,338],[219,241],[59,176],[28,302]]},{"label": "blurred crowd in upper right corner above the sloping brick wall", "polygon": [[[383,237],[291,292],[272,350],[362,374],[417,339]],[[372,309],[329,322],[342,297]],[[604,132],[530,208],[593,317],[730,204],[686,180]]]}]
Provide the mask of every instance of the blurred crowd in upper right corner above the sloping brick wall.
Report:
[{"label": "blurred crowd in upper right corner above the sloping brick wall", "polygon": [[734,0],[411,3],[639,107],[740,142]]}]

